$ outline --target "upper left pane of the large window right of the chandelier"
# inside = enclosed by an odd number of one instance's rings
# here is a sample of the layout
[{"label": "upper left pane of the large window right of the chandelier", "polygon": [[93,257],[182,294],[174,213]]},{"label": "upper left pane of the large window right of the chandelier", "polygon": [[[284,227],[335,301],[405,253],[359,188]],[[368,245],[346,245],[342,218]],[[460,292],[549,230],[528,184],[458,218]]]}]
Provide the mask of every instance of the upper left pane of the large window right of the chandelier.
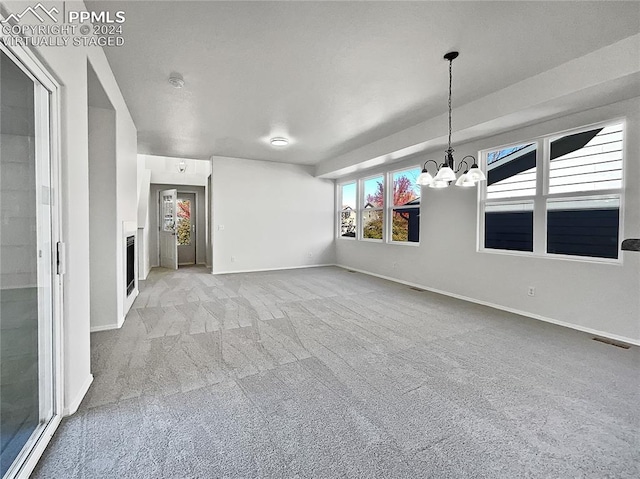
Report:
[{"label": "upper left pane of the large window right of the chandelier", "polygon": [[487,154],[487,198],[536,194],[536,144],[527,143]]}]

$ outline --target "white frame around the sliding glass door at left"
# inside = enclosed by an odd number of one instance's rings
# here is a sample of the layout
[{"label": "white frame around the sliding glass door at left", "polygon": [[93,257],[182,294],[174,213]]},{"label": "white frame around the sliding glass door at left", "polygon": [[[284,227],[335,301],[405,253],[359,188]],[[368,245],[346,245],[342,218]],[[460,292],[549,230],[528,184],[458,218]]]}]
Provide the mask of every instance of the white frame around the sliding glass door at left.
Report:
[{"label": "white frame around the sliding glass door at left", "polygon": [[[0,15],[2,18],[2,15]],[[51,364],[52,370],[52,416],[48,422],[39,425],[33,432],[14,463],[7,470],[5,478],[27,478],[33,472],[38,460],[42,456],[47,444],[56,431],[62,419],[64,407],[64,370],[63,370],[63,277],[64,264],[59,264],[61,259],[58,249],[62,243],[62,195],[61,195],[61,171],[60,171],[60,83],[47,71],[37,56],[28,48],[20,46],[7,46],[0,39],[0,50],[11,59],[34,83],[40,84],[45,91],[37,89],[35,92],[35,128],[36,136],[49,140],[49,174],[51,186],[51,254],[52,254],[52,324],[51,324]],[[40,91],[38,91],[40,90]],[[48,108],[43,109],[43,95],[48,92]],[[48,110],[48,111],[47,111]],[[46,115],[46,116],[45,116]],[[43,118],[46,120],[43,121]],[[36,144],[37,146],[37,144]],[[40,152],[42,153],[42,152]],[[36,169],[39,169],[42,158],[38,158],[36,149]],[[40,335],[40,333],[39,333]],[[40,347],[39,347],[40,349]],[[49,365],[47,365],[49,366]]]}]

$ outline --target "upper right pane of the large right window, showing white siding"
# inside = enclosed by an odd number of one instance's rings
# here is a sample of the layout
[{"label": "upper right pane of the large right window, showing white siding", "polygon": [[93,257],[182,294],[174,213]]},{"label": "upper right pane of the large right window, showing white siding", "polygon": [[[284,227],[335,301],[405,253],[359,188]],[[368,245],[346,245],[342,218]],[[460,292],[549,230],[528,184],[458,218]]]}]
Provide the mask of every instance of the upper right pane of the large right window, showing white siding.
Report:
[{"label": "upper right pane of the large right window, showing white siding", "polygon": [[549,193],[622,188],[622,124],[551,142]]}]

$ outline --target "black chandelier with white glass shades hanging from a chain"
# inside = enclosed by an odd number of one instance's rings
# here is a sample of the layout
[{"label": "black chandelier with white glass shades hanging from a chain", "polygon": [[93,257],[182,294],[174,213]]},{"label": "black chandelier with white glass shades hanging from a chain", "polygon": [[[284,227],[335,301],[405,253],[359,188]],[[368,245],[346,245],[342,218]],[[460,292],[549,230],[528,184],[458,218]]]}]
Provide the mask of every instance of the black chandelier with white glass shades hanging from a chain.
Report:
[{"label": "black chandelier with white glass shades hanging from a chain", "polygon": [[[453,64],[453,60],[456,58],[458,58],[458,52],[449,52],[444,56],[444,59],[449,62],[449,147],[445,151],[444,163],[438,166],[438,164],[433,160],[425,161],[424,166],[422,167],[422,173],[420,173],[417,180],[419,185],[428,186],[430,188],[446,188],[454,181],[456,186],[467,188],[475,186],[479,181],[487,179],[482,170],[478,167],[478,162],[474,156],[465,156],[460,160],[458,167],[455,168],[455,162],[453,159],[454,150],[451,148],[451,84],[453,83],[451,66]],[[470,158],[470,162],[473,160],[471,167],[469,167],[469,163],[465,161],[467,158]],[[434,163],[436,165],[438,173],[435,178],[427,171],[427,163]],[[463,166],[465,168],[464,173],[457,178],[456,174],[462,170]]]}]

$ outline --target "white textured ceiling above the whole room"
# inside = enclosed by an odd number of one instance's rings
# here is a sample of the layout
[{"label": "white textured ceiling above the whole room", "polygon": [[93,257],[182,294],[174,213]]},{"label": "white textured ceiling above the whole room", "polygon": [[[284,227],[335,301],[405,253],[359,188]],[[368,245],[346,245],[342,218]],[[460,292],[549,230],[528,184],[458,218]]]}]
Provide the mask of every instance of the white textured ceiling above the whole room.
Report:
[{"label": "white textured ceiling above the whole room", "polygon": [[[638,2],[85,2],[141,153],[316,164],[638,32]],[[171,72],[184,76],[172,88]],[[272,136],[291,139],[274,148]]]}]

